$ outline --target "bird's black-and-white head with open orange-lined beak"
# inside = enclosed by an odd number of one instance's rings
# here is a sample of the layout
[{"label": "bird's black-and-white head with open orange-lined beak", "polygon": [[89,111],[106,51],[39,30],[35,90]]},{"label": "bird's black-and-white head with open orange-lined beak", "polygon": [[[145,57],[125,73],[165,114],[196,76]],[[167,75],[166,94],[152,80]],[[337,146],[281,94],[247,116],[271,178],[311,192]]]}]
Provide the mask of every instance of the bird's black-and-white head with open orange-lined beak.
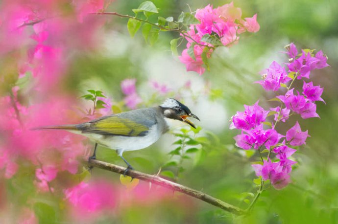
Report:
[{"label": "bird's black-and-white head with open orange-lined beak", "polygon": [[166,118],[170,118],[170,119],[174,119],[174,120],[180,120],[183,121],[187,124],[189,124],[190,126],[192,126],[193,128],[196,128],[196,126],[187,118],[188,117],[193,117],[197,120],[199,120],[199,118],[194,115],[187,106],[185,106],[184,104],[182,104],[181,102],[173,99],[173,98],[169,98],[166,99],[163,104],[160,105],[160,107],[163,110],[163,114]]}]

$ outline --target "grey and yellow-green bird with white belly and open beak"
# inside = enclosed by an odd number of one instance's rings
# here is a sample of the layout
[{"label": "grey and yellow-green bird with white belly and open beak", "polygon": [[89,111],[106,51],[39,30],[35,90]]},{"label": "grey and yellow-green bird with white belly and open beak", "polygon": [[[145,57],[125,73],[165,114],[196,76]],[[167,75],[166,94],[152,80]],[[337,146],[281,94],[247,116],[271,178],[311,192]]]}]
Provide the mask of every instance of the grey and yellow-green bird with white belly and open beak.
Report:
[{"label": "grey and yellow-green bird with white belly and open beak", "polygon": [[124,176],[134,168],[123,157],[123,152],[144,149],[155,143],[169,131],[170,120],[179,120],[196,126],[187,118],[193,117],[200,121],[190,109],[174,98],[166,99],[161,105],[102,116],[89,122],[58,126],[43,126],[34,130],[66,130],[81,134],[95,142],[93,156],[96,159],[97,145],[116,150],[119,157],[126,163]]}]

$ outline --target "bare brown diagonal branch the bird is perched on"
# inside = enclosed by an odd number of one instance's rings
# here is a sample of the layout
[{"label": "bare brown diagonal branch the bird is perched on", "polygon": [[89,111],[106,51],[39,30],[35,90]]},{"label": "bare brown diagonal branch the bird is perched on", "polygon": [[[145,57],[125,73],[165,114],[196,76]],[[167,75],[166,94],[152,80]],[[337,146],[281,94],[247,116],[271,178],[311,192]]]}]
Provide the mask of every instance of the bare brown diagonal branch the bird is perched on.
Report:
[{"label": "bare brown diagonal branch the bird is perched on", "polygon": [[[111,163],[107,163],[107,162],[102,162],[96,159],[89,159],[88,161],[89,166],[93,166],[93,167],[97,167],[100,169],[104,169],[104,170],[108,170],[108,171],[112,171],[114,173],[118,173],[118,174],[123,174],[125,168],[122,166],[118,166],[115,164],[111,164]],[[157,184],[166,188],[169,188],[173,191],[178,191],[181,192],[183,194],[186,195],[190,195],[196,199],[202,200],[204,202],[207,202],[209,204],[215,205],[218,208],[221,208],[227,212],[231,212],[233,214],[236,215],[243,215],[244,214],[244,210],[242,210],[239,207],[236,207],[234,205],[228,204],[226,202],[223,202],[219,199],[216,199],[214,197],[211,197],[210,195],[207,195],[201,191],[197,191],[194,190],[192,188],[183,186],[181,184],[169,181],[168,179],[163,179],[160,178],[158,176],[154,176],[154,175],[149,175],[149,174],[145,174],[145,173],[141,173],[139,171],[135,171],[135,170],[129,170],[126,175],[128,175],[129,177],[132,178],[136,178],[136,179],[141,179],[144,180],[146,182],[151,182],[153,184]]]}]

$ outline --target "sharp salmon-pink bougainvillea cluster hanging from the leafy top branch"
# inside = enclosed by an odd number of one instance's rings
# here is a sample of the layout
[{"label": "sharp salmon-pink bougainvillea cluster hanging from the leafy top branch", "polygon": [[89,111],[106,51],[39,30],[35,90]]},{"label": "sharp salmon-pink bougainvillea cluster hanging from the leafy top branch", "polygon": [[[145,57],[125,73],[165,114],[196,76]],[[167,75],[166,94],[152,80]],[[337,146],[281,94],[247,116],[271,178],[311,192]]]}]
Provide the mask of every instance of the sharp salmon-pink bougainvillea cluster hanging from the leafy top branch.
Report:
[{"label": "sharp salmon-pink bougainvillea cluster hanging from the leafy top branch", "polygon": [[244,20],[241,19],[241,14],[241,8],[234,7],[233,2],[217,8],[209,4],[197,9],[195,18],[200,23],[191,24],[187,33],[182,35],[188,43],[179,59],[186,65],[187,71],[203,74],[203,54],[209,58],[218,45],[236,44],[238,34],[245,31],[257,32],[260,29],[257,14]]}]

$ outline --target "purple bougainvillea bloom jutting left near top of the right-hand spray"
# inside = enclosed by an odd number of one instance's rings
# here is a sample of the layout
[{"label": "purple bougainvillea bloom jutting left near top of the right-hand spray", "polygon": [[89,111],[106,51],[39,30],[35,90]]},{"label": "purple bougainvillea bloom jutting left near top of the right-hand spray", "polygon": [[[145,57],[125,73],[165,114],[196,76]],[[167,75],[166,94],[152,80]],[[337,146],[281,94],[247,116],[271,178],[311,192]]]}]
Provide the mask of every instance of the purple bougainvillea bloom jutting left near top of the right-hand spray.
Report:
[{"label": "purple bougainvillea bloom jutting left near top of the right-hand spray", "polygon": [[262,85],[265,90],[277,91],[281,87],[281,83],[286,83],[291,80],[288,77],[285,68],[275,61],[272,62],[270,67],[264,70],[262,73],[264,73],[263,80],[257,81],[255,83]]}]

